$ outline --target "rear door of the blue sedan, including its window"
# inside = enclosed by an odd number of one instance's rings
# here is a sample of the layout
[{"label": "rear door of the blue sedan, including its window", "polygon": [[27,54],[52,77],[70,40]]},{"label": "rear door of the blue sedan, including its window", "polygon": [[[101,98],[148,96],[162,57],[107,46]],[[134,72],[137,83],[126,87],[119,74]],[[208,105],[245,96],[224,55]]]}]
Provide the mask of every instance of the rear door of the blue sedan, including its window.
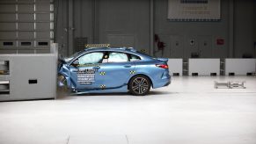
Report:
[{"label": "rear door of the blue sedan, including its window", "polygon": [[135,64],[129,61],[128,54],[121,52],[108,52],[99,69],[102,76],[104,89],[120,88],[128,83],[128,79],[134,74]]}]

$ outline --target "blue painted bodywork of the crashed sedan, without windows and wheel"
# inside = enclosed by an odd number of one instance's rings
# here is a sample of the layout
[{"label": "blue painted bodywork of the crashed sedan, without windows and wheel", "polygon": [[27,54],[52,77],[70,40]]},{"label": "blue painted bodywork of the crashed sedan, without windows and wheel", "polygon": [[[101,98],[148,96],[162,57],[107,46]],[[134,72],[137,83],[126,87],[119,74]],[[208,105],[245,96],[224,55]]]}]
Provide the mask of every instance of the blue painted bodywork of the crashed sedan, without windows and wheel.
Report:
[{"label": "blue painted bodywork of the crashed sedan, without windows and wheel", "polygon": [[[99,62],[74,66],[73,63],[83,56],[94,52],[132,54],[139,61]],[[168,68],[158,68],[156,64],[166,64],[168,59],[152,58],[128,48],[89,48],[74,54],[59,64],[58,73],[65,77],[67,86],[77,93],[127,92],[129,80],[136,75],[150,78],[152,88],[167,86],[171,83]],[[62,86],[63,82],[59,82]]]}]

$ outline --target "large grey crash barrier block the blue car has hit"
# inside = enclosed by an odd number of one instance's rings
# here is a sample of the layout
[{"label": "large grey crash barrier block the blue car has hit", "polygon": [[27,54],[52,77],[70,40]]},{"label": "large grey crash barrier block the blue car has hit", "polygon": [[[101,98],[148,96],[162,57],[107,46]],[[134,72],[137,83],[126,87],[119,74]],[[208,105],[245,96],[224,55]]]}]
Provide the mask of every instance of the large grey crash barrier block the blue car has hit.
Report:
[{"label": "large grey crash barrier block the blue car has hit", "polygon": [[50,54],[0,54],[0,101],[56,97],[57,44]]}]

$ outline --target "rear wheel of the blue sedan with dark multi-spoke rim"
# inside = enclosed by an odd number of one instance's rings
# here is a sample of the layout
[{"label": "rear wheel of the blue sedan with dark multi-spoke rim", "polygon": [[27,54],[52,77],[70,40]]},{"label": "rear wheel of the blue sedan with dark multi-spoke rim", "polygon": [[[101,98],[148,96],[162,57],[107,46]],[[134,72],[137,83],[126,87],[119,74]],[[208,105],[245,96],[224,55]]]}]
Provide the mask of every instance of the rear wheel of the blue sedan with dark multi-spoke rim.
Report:
[{"label": "rear wheel of the blue sedan with dark multi-spoke rim", "polygon": [[150,78],[143,75],[134,76],[128,83],[128,90],[135,96],[145,96],[150,92]]}]

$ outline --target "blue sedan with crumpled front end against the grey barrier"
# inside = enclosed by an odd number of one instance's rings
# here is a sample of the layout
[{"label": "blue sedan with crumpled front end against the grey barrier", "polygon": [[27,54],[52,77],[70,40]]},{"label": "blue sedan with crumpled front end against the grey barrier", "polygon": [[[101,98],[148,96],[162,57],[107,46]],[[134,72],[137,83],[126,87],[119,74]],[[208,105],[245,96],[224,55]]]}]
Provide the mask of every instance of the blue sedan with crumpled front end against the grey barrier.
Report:
[{"label": "blue sedan with crumpled front end against the grey barrier", "polygon": [[150,88],[171,83],[167,61],[134,48],[90,47],[61,61],[59,85],[77,94],[129,91],[144,96]]}]

